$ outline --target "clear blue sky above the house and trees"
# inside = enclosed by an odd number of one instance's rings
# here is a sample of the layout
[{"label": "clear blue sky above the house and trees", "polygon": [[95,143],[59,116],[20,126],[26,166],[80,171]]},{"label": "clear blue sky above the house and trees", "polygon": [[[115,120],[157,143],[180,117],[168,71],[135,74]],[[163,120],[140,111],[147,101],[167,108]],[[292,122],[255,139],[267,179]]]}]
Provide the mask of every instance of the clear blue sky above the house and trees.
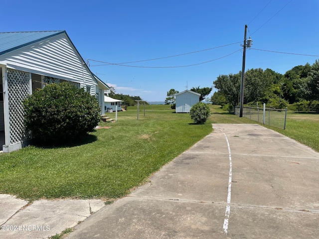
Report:
[{"label": "clear blue sky above the house and trees", "polygon": [[[319,59],[318,0],[11,0],[2,2],[1,9],[2,32],[66,30],[93,73],[116,93],[146,101],[164,101],[169,89],[181,92],[186,85],[211,87],[219,75],[238,73],[245,24],[252,48],[317,55],[249,49],[246,70],[270,68],[284,74]],[[228,46],[219,47],[223,45]],[[200,51],[209,48],[215,49]],[[200,52],[124,64],[143,68],[96,62],[142,61],[194,51]]]}]

